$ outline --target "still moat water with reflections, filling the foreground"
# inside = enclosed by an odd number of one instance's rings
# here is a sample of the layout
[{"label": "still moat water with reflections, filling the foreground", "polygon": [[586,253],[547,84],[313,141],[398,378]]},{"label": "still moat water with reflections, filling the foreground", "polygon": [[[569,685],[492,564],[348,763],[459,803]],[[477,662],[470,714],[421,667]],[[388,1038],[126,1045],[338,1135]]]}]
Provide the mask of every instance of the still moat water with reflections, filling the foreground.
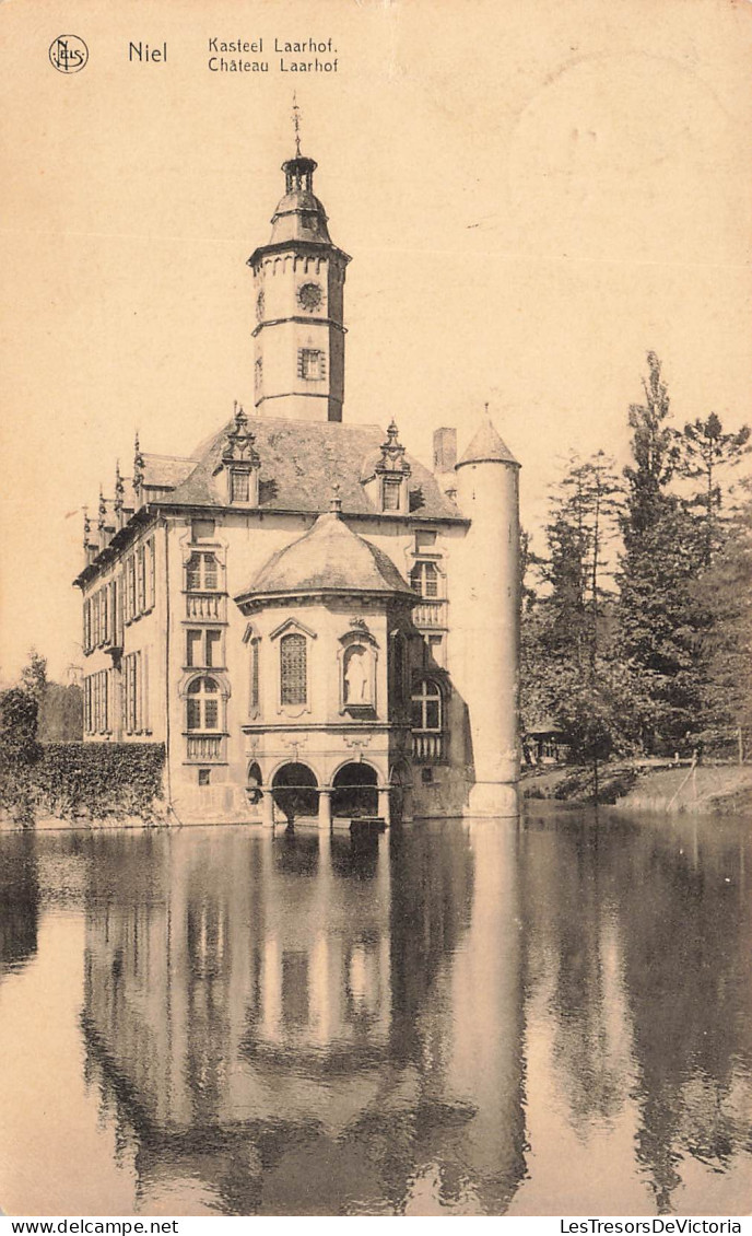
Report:
[{"label": "still moat water with reflections, filling the foreground", "polygon": [[0,836],[11,1215],[752,1209],[750,821]]}]

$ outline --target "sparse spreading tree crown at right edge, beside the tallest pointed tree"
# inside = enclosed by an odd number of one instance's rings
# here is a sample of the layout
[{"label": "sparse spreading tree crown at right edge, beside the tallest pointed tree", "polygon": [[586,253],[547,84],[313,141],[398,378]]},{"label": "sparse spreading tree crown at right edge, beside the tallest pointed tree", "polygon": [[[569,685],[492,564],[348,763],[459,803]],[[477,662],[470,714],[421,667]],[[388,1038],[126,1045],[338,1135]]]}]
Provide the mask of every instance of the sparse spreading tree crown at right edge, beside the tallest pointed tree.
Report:
[{"label": "sparse spreading tree crown at right edge, beside the tallest pointed tree", "polygon": [[719,473],[735,467],[750,450],[750,426],[742,425],[735,434],[724,433],[720,417],[711,412],[705,420],[698,418],[684,425],[678,446],[679,476],[700,482],[689,507],[698,512],[699,554],[703,566],[708,567],[722,541],[724,494]]}]

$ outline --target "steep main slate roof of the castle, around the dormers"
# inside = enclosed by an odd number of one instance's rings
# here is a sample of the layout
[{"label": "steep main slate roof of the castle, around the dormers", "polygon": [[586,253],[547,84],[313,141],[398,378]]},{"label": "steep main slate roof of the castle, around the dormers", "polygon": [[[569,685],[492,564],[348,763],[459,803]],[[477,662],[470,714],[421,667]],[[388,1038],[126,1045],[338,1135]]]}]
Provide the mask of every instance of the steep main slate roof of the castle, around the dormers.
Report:
[{"label": "steep main slate roof of the castle, around the dormers", "polygon": [[[205,445],[203,457],[193,466],[164,501],[182,507],[226,507],[226,485],[220,473],[230,421]],[[352,425],[337,421],[251,418],[254,449],[261,456],[261,510],[294,510],[306,514],[328,510],[332,485],[340,486],[346,515],[378,513],[362,480],[373,473],[372,462],[379,455],[385,433],[378,425]],[[421,519],[462,519],[457,506],[447,498],[433,475],[407,456],[411,512]],[[190,462],[190,461],[184,461]]]}]

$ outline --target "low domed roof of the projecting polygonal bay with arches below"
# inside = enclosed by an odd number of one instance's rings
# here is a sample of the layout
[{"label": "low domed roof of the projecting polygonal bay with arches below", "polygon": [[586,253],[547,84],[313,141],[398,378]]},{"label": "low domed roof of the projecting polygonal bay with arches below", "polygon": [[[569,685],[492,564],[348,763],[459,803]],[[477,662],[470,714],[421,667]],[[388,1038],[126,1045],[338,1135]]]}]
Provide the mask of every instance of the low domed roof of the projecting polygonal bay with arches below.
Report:
[{"label": "low domed roof of the projecting polygonal bay with arches below", "polygon": [[336,512],[278,550],[237,601],[301,592],[358,592],[417,597],[383,550],[348,528]]}]

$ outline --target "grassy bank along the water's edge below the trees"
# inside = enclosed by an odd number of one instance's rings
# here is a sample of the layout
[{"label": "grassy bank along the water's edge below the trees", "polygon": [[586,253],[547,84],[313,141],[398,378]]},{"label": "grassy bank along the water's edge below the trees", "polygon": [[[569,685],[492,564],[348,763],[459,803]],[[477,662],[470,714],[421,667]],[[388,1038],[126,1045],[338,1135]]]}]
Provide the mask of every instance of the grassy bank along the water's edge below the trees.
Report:
[{"label": "grassy bank along the water's edge below the trees", "polygon": [[752,815],[752,765],[716,764],[690,769],[622,761],[591,768],[527,771],[525,798],[612,803],[626,811]]}]

